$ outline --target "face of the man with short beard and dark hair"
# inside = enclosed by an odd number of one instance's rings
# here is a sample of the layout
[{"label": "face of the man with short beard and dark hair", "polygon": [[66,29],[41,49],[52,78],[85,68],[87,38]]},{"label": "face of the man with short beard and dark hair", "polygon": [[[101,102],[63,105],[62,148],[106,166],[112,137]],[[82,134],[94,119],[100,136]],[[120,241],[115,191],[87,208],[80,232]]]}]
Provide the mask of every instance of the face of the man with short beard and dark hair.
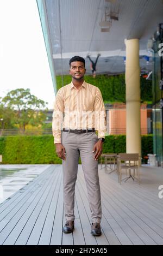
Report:
[{"label": "face of the man with short beard and dark hair", "polygon": [[72,78],[76,80],[83,79],[85,72],[86,72],[86,69],[84,68],[83,62],[80,62],[80,61],[71,62],[69,73],[72,76]]}]

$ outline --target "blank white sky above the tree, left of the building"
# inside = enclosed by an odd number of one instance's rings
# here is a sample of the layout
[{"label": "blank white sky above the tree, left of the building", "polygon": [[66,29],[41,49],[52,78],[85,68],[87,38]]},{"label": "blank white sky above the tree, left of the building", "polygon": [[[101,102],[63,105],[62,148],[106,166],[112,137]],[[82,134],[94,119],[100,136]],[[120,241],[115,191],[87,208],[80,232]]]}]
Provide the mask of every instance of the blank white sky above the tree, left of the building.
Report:
[{"label": "blank white sky above the tree, left of the building", "polygon": [[55,93],[36,0],[0,0],[0,97],[30,88],[53,109]]}]

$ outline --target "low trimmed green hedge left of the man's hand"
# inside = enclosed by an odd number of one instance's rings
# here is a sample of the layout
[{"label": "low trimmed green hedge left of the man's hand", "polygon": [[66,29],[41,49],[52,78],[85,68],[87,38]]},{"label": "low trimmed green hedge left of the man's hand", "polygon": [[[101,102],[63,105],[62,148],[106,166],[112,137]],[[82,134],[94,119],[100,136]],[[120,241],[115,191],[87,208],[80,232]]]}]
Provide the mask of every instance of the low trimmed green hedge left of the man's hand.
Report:
[{"label": "low trimmed green hedge left of the man's hand", "polygon": [[60,164],[52,135],[7,136],[0,140],[3,164]]}]

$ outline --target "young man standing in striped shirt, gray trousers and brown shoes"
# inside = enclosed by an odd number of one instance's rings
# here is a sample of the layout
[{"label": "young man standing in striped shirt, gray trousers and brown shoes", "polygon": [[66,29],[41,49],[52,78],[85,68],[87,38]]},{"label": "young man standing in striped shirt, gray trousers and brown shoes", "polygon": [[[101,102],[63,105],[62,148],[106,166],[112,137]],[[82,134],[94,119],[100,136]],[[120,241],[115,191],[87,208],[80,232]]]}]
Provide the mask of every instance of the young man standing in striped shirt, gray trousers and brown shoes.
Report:
[{"label": "young man standing in striped shirt, gray trousers and brown shoes", "polygon": [[91,209],[91,234],[101,235],[98,157],[102,153],[106,131],[105,107],[98,87],[84,81],[84,58],[74,56],[69,64],[72,82],[59,89],[53,112],[54,144],[63,167],[66,218],[63,232],[71,233],[74,229],[74,188],[80,156]]}]

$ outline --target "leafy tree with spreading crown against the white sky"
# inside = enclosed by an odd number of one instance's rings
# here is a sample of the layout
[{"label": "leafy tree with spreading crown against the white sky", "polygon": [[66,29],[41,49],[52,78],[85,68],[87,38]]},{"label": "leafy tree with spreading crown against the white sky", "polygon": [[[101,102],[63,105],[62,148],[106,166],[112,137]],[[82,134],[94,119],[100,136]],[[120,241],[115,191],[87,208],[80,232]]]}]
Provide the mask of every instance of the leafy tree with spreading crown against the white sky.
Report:
[{"label": "leafy tree with spreading crown against the white sky", "polygon": [[28,124],[40,126],[46,120],[46,115],[40,110],[45,109],[47,103],[32,95],[29,88],[8,92],[2,103],[5,108],[14,110],[15,124],[20,129],[25,130]]}]

